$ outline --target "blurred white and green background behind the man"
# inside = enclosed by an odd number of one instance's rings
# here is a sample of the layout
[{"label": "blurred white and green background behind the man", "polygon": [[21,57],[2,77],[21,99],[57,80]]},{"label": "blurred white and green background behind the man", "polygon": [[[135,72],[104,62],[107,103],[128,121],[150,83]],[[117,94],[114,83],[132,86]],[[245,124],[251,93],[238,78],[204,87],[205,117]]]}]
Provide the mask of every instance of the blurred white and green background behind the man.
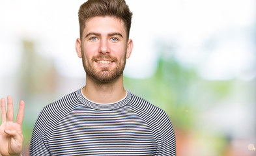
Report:
[{"label": "blurred white and green background behind the man", "polygon": [[[84,1],[0,0],[0,96],[25,100],[24,150],[40,110],[85,85]],[[126,0],[126,90],[167,112],[177,155],[256,155],[256,1]]]}]

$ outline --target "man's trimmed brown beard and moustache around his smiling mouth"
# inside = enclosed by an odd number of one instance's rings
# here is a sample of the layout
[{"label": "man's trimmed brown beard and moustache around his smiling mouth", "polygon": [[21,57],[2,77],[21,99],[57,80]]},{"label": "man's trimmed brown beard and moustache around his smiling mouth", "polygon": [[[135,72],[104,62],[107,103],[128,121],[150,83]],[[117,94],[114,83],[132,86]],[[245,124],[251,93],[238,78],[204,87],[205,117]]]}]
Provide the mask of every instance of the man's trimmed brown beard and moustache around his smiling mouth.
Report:
[{"label": "man's trimmed brown beard and moustache around his smiling mouth", "polygon": [[[125,55],[126,56],[126,53]],[[109,59],[113,60],[117,64],[117,66],[114,69],[110,69],[110,67],[98,67],[96,69],[95,66],[93,66],[95,60],[98,59]],[[109,55],[100,55],[96,57],[92,57],[91,60],[89,60],[82,51],[82,61],[83,61],[83,68],[85,69],[85,72],[87,73],[87,76],[92,77],[94,80],[98,81],[98,83],[109,83],[116,79],[117,77],[120,77],[124,71],[124,66],[126,64],[126,58],[122,58],[121,60],[117,60],[115,57],[111,57]]]}]

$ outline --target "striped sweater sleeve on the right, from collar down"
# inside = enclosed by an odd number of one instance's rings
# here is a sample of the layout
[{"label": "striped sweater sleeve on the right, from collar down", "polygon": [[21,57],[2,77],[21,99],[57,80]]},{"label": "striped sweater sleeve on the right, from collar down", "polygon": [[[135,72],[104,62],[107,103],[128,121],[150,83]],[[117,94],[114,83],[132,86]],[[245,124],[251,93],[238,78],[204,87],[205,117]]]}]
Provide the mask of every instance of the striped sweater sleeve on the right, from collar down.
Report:
[{"label": "striped sweater sleeve on the right, from collar down", "polygon": [[173,125],[166,112],[159,107],[133,95],[134,111],[139,115],[152,129],[157,140],[157,149],[155,155],[175,156],[176,140]]}]

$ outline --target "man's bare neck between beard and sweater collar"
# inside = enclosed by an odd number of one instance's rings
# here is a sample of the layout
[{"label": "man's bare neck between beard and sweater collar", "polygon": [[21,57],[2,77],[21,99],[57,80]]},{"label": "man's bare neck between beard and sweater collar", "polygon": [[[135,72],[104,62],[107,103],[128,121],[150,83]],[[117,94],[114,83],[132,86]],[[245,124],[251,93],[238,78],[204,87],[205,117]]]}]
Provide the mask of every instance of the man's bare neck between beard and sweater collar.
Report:
[{"label": "man's bare neck between beard and sweater collar", "polygon": [[82,93],[87,99],[102,104],[115,103],[126,96],[122,75],[109,83],[99,83],[87,75]]}]

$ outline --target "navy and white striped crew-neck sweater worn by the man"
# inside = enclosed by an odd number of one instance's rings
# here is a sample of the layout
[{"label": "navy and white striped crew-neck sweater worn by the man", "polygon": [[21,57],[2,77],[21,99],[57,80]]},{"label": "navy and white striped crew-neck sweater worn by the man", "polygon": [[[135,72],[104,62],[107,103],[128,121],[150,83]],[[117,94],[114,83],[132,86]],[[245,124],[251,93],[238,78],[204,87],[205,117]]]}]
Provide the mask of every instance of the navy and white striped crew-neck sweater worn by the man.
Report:
[{"label": "navy and white striped crew-neck sweater worn by the man", "polygon": [[175,134],[164,110],[130,92],[100,104],[79,89],[42,109],[30,155],[176,155]]}]

